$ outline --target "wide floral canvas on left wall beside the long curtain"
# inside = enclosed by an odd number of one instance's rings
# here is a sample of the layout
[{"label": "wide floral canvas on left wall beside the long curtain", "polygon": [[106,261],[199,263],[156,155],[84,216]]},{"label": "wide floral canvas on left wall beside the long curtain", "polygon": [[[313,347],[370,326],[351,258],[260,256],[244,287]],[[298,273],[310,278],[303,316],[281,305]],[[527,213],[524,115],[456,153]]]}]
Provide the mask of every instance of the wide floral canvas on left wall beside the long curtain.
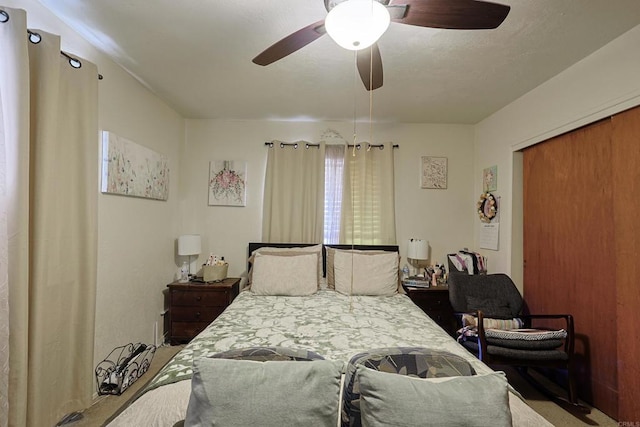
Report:
[{"label": "wide floral canvas on left wall beside the long curtain", "polygon": [[103,193],[146,199],[169,197],[169,160],[113,132],[102,132]]}]

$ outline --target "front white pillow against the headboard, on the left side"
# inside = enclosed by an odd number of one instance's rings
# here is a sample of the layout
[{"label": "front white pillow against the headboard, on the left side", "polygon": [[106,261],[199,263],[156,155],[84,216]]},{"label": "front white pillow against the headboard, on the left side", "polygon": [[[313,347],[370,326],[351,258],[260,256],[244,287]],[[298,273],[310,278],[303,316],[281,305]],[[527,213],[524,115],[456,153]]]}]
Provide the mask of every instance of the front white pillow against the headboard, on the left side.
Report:
[{"label": "front white pillow against the headboard, on the left side", "polygon": [[256,295],[311,295],[318,290],[318,254],[256,254],[251,292]]}]

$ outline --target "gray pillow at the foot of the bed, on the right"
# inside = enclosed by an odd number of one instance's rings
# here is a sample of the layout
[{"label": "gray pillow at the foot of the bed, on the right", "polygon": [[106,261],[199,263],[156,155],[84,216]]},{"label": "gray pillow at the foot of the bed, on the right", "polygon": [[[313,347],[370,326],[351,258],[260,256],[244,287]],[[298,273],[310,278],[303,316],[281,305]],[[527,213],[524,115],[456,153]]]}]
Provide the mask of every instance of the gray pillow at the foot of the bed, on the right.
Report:
[{"label": "gray pillow at the foot of the bed, on the right", "polygon": [[413,378],[358,366],[362,425],[511,426],[503,372]]}]

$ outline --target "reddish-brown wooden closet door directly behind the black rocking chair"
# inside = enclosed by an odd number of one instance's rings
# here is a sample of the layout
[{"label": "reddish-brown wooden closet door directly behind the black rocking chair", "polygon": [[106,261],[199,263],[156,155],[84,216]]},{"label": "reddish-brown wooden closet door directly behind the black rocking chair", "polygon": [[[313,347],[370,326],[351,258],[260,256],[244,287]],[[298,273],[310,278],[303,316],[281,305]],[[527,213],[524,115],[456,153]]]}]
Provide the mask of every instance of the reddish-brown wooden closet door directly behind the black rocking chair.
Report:
[{"label": "reddish-brown wooden closet door directly behind the black rocking chair", "polygon": [[524,150],[524,298],[570,313],[580,397],[617,418],[611,122]]}]

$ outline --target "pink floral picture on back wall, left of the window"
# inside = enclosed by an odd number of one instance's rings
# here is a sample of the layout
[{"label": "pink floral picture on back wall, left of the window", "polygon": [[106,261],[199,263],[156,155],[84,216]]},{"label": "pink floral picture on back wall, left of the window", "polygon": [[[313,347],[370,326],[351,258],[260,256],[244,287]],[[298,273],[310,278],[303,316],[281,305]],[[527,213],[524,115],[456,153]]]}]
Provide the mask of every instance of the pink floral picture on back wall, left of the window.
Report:
[{"label": "pink floral picture on back wall, left of the window", "polygon": [[247,162],[214,160],[209,162],[209,206],[245,206]]}]

